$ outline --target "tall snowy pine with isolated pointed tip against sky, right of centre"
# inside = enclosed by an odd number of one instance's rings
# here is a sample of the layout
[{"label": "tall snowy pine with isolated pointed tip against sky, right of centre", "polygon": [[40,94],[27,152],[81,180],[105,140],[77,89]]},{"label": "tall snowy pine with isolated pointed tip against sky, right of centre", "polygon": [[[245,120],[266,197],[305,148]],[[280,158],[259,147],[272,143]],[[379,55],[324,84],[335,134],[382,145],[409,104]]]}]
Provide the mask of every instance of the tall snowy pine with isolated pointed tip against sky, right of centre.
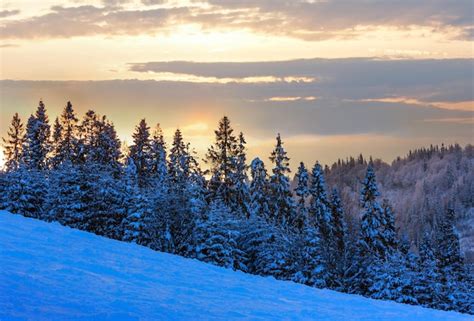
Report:
[{"label": "tall snowy pine with isolated pointed tip against sky, right of centre", "polygon": [[270,177],[270,219],[277,225],[287,227],[294,219],[293,195],[290,188],[288,174],[291,172],[289,158],[280,134],[276,137],[275,149],[272,151],[270,160],[274,167],[273,175]]}]

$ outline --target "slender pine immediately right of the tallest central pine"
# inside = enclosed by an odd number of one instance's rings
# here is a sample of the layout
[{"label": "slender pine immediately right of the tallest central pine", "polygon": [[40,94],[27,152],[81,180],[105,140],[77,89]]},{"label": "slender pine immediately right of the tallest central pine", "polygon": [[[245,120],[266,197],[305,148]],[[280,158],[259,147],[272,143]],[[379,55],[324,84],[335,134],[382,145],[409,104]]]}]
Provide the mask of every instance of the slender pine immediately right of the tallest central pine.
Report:
[{"label": "slender pine immediately right of the tallest central pine", "polygon": [[244,134],[240,132],[238,138],[238,146],[236,156],[233,158],[235,172],[230,173],[232,201],[231,208],[234,213],[241,217],[248,218],[250,216],[250,192],[247,176],[248,166],[246,164],[247,155],[245,153],[245,138]]}]

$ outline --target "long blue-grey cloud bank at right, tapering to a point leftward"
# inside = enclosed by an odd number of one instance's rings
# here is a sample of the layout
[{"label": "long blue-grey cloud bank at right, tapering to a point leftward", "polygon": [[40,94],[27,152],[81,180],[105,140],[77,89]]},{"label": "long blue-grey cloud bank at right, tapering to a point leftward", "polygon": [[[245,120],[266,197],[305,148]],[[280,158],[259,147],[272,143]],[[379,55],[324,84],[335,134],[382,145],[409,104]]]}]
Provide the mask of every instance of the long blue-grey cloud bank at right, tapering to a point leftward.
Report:
[{"label": "long blue-grey cloud bank at right, tapering to a point leftward", "polygon": [[[304,82],[246,88],[248,99],[322,96],[363,100],[410,97],[425,105],[474,100],[473,59],[380,60],[372,58],[297,59],[262,62],[146,62],[129,64],[135,72],[184,74],[207,79],[275,77]],[[299,77],[299,78],[298,78]],[[310,81],[313,79],[312,81]],[[280,87],[278,87],[280,86]],[[242,88],[242,87],[239,87]],[[263,97],[262,97],[263,95]],[[398,101],[400,102],[400,101]],[[447,105],[446,105],[447,106]],[[438,105],[445,107],[445,105]],[[456,108],[452,108],[456,109]]]}]

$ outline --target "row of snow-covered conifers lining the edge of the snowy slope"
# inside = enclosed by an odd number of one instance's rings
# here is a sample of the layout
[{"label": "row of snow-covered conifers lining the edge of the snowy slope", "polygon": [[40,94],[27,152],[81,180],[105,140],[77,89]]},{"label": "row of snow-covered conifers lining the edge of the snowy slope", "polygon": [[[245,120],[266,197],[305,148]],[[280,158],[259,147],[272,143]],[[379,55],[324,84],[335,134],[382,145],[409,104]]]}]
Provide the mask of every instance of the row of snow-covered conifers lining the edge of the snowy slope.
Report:
[{"label": "row of snow-covered conifers lining the edge of the snowy slope", "polygon": [[413,248],[381,200],[373,162],[364,164],[354,228],[319,163],[300,163],[291,187],[280,135],[270,172],[259,158],[248,164],[244,135],[227,117],[208,149],[207,172],[179,129],[169,147],[144,119],[132,137],[123,153],[112,122],[94,111],[79,121],[69,102],[52,129],[43,102],[26,128],[15,114],[4,139],[0,207],[248,273],[473,313],[454,210],[443,209]]}]

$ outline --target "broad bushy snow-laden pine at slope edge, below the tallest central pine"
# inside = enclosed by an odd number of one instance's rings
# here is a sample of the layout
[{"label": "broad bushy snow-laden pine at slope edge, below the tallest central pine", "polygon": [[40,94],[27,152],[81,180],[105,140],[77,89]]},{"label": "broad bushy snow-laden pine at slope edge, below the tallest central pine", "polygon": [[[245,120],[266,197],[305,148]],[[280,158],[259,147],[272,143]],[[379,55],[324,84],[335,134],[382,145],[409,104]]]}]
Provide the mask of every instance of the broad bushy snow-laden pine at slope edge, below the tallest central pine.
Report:
[{"label": "broad bushy snow-laden pine at slope edge, below the tallest central pine", "polygon": [[244,253],[237,246],[239,222],[222,200],[214,200],[196,226],[196,258],[234,270],[245,270]]}]

